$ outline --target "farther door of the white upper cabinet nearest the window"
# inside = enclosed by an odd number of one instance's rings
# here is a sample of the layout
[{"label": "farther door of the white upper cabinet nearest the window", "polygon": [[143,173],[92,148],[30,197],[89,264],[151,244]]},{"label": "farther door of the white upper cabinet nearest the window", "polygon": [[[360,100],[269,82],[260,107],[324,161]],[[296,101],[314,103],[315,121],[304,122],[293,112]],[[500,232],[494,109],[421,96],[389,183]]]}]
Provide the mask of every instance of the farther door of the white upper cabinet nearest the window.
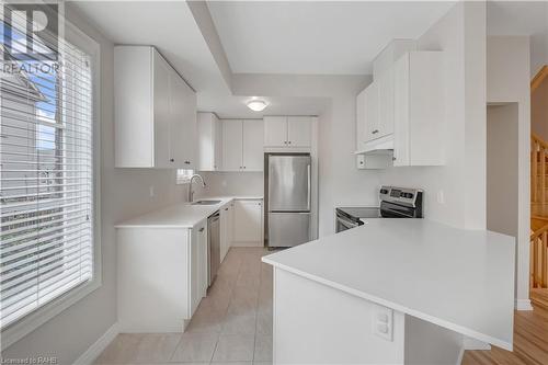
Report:
[{"label": "farther door of the white upper cabinet nearest the window", "polygon": [[170,78],[170,163],[173,168],[193,169],[196,150],[196,94],[171,70]]}]

